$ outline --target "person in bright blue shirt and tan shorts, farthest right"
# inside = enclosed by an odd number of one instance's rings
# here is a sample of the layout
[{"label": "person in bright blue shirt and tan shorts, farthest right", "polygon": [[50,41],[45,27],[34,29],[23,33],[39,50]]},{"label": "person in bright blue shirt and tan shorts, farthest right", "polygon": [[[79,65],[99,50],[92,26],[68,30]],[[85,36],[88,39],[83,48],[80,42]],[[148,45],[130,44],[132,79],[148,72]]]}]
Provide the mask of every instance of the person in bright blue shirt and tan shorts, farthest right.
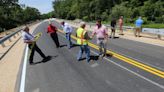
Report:
[{"label": "person in bright blue shirt and tan shorts, farthest right", "polygon": [[[135,22],[135,25],[136,25],[136,30],[134,32],[134,35],[135,37],[140,37],[140,32],[141,32],[141,29],[142,29],[142,24],[143,24],[143,20],[141,19],[141,17],[139,17],[136,22]],[[138,35],[137,35],[138,33]]]}]

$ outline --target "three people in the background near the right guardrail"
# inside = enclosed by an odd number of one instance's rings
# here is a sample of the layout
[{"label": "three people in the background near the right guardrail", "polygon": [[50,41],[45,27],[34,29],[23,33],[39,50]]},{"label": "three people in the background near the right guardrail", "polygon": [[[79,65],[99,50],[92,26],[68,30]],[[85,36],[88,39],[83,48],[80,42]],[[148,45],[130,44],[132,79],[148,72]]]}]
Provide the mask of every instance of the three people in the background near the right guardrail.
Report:
[{"label": "three people in the background near the right guardrail", "polygon": [[[140,37],[140,33],[141,33],[141,29],[142,29],[142,24],[143,24],[143,20],[141,17],[139,17],[136,21],[135,21],[135,30],[134,30],[134,36],[135,37]],[[111,38],[115,38],[115,31],[116,31],[116,27],[117,27],[117,20],[116,19],[112,19],[111,21]],[[120,16],[119,20],[118,20],[118,27],[119,27],[119,35],[124,35],[123,34],[123,16]]]}]

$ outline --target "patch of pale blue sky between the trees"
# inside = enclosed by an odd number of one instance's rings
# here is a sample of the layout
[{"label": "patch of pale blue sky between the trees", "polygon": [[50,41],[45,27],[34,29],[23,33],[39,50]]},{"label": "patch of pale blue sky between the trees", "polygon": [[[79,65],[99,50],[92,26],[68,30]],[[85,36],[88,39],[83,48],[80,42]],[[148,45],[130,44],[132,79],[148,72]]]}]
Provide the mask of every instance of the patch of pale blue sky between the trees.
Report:
[{"label": "patch of pale blue sky between the trees", "polygon": [[19,4],[37,8],[43,14],[53,11],[52,1],[54,0],[19,0]]}]

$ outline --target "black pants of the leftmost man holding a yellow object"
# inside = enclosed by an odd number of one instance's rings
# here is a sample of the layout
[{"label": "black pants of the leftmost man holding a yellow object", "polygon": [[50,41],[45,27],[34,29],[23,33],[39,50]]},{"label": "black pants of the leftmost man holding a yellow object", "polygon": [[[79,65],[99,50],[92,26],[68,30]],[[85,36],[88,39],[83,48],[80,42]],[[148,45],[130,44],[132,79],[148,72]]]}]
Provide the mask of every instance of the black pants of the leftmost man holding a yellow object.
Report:
[{"label": "black pants of the leftmost man holding a yellow object", "polygon": [[34,57],[35,51],[37,51],[42,58],[46,58],[46,56],[44,55],[44,53],[39,49],[39,47],[36,44],[34,45],[33,48],[32,48],[32,44],[29,44],[28,47],[31,49],[31,54],[30,54],[30,59],[29,59],[30,60],[30,63],[33,62],[33,57]]}]

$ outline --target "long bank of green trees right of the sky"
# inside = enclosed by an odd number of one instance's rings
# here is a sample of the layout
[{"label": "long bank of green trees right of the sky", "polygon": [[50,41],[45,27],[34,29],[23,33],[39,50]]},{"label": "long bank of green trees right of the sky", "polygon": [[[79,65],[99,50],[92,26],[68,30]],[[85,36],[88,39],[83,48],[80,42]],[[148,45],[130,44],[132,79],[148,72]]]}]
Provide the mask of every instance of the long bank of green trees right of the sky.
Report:
[{"label": "long bank of green trees right of the sky", "polygon": [[63,19],[104,21],[124,16],[126,23],[134,23],[139,16],[144,23],[164,23],[163,0],[55,0],[54,16]]}]

